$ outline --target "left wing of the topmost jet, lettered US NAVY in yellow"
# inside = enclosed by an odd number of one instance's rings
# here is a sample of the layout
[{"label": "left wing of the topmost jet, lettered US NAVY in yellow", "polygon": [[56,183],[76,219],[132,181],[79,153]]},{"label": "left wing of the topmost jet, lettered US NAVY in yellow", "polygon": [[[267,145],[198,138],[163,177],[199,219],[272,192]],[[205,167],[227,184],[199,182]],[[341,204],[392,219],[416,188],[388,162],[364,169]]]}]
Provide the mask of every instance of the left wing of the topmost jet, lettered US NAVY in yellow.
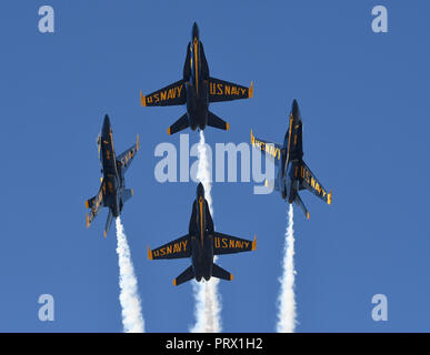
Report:
[{"label": "left wing of the topmost jet, lettered US NAVY in yellow", "polygon": [[183,80],[157,90],[149,95],[143,95],[140,92],[140,103],[142,106],[170,106],[184,104],[186,102],[187,95]]}]

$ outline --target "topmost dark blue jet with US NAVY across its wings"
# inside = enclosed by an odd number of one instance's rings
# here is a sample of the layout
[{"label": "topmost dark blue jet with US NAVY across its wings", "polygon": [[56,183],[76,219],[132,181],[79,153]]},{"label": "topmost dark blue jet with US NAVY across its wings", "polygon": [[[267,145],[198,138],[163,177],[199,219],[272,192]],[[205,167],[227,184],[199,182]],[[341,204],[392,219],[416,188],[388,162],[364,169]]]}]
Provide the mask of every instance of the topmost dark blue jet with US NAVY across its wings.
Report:
[{"label": "topmost dark blue jet with US NAVY across its wings", "polygon": [[187,112],[168,129],[168,134],[173,134],[188,126],[193,131],[197,128],[204,130],[207,125],[227,131],[230,128],[229,123],[210,112],[209,103],[248,99],[252,95],[252,82],[250,88],[246,88],[210,77],[203,43],[199,39],[199,28],[194,22],[191,42],[187,45],[182,80],[148,95],[140,92],[140,102],[142,106],[169,106],[187,103]]}]

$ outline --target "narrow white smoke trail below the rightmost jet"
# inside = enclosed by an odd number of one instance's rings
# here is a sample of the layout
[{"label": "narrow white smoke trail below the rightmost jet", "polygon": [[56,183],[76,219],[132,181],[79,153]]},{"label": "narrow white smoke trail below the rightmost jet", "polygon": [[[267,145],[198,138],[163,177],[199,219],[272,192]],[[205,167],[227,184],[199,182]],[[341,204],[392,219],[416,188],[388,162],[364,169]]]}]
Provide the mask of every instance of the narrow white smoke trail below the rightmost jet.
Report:
[{"label": "narrow white smoke trail below the rightmost jet", "polygon": [[279,294],[278,333],[293,333],[296,327],[296,300],[294,300],[294,231],[293,231],[292,204],[288,212],[288,226],[286,231],[286,245],[282,261],[283,274],[279,282],[281,292]]}]

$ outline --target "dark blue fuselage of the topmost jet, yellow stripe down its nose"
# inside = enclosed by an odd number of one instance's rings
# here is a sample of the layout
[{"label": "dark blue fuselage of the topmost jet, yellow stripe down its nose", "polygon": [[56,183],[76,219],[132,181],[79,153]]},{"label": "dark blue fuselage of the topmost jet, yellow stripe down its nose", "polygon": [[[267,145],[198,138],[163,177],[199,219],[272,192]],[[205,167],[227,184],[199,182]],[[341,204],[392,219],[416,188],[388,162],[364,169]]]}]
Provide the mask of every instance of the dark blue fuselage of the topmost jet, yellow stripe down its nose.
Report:
[{"label": "dark blue fuselage of the topmost jet, yellow stripe down its nose", "polygon": [[187,115],[191,130],[203,130],[208,124],[209,69],[197,23],[192,27],[183,71],[187,93]]}]

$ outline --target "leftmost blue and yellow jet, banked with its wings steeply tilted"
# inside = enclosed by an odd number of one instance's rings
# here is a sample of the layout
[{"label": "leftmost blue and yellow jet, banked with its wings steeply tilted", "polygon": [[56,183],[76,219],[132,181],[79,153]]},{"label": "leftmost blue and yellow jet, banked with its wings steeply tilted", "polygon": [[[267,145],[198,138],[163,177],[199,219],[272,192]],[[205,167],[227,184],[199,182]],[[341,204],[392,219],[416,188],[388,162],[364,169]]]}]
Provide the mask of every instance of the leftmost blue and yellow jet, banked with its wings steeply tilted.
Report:
[{"label": "leftmost blue and yellow jet, banked with its wings steeply tilted", "polygon": [[109,207],[108,220],[104,226],[104,237],[109,232],[112,216],[118,217],[121,214],[123,204],[132,195],[131,189],[126,189],[124,174],[129,169],[136,153],[139,151],[139,135],[137,143],[122,154],[116,156],[113,149],[112,128],[109,116],[104,115],[103,126],[98,136],[99,158],[101,162],[101,184],[96,196],[86,201],[86,207],[90,209],[87,213],[87,227],[90,226],[100,209]]}]

